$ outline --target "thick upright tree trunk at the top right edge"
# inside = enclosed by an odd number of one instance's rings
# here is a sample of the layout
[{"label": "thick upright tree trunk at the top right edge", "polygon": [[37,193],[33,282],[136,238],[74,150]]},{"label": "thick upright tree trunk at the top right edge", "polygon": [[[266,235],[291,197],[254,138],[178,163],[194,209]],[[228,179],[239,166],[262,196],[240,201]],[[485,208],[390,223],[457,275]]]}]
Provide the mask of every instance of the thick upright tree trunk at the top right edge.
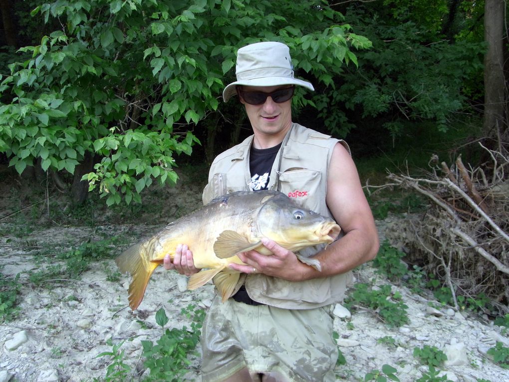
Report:
[{"label": "thick upright tree trunk at the top right edge", "polygon": [[484,36],[488,51],[484,59],[484,132],[488,137],[503,137],[507,131],[504,121],[505,80],[503,71],[504,0],[486,0]]}]

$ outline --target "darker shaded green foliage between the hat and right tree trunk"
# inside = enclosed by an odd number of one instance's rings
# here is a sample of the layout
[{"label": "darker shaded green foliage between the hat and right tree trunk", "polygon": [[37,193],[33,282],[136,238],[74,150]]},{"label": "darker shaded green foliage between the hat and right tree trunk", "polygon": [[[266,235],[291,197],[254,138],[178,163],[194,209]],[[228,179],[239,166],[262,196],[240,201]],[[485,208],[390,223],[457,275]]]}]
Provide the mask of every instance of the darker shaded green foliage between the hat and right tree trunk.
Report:
[{"label": "darker shaded green foliage between the hat and right tree trunk", "polygon": [[[428,15],[429,5],[421,4],[427,9],[422,15]],[[374,9],[355,6],[346,12],[373,48],[357,54],[358,70],[345,68],[336,86],[316,96],[320,116],[342,136],[356,125],[375,124],[395,139],[405,121],[422,120],[447,130],[451,117],[467,106],[464,84],[482,76],[484,45],[447,41],[422,20],[394,20]],[[402,6],[394,12],[406,11]]]}]

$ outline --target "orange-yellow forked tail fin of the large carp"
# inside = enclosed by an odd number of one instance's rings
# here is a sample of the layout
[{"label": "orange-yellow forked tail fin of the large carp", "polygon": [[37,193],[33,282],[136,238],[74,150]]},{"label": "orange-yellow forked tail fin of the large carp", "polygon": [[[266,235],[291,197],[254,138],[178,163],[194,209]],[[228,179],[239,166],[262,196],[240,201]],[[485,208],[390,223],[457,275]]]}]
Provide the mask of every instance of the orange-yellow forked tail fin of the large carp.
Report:
[{"label": "orange-yellow forked tail fin of the large carp", "polygon": [[132,277],[129,285],[129,306],[132,310],[135,310],[142,302],[152,272],[159,265],[145,259],[142,245],[143,243],[133,245],[115,259],[120,270],[129,272]]}]

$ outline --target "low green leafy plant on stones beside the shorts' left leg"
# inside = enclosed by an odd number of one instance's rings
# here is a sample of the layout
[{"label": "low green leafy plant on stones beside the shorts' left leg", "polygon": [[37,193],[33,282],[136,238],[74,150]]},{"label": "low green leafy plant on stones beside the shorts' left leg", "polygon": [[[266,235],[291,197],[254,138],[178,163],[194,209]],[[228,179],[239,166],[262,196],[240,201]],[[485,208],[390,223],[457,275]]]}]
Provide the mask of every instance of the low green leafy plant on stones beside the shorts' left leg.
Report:
[{"label": "low green leafy plant on stones beside the shorts' left leg", "polygon": [[[182,314],[192,317],[190,331],[186,326],[182,329],[166,329],[157,344],[152,341],[142,341],[144,365],[150,369],[149,380],[164,380],[168,382],[182,381],[190,365],[188,357],[197,355],[192,353],[200,340],[205,312],[192,305],[182,309]],[[161,308],[156,313],[156,322],[161,328],[168,322],[168,317]]]}]

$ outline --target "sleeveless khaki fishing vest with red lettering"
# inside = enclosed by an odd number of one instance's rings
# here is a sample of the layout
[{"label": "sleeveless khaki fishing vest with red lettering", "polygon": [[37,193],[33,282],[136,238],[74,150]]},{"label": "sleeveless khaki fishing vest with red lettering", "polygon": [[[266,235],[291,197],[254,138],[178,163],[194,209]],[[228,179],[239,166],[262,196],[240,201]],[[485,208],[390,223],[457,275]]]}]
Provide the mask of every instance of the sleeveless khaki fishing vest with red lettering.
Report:
[{"label": "sleeveless khaki fishing vest with red lettering", "polygon": [[[203,203],[249,187],[249,150],[254,135],[218,155],[209,172],[209,183],[203,191]],[[344,141],[293,123],[277,153],[270,173],[268,189],[278,190],[302,207],[333,218],[325,203],[327,171],[332,150]],[[316,246],[300,253],[316,254]],[[242,274],[237,290],[245,284],[254,300],[284,309],[312,309],[343,301],[351,272],[327,278],[292,282],[263,274]]]}]

